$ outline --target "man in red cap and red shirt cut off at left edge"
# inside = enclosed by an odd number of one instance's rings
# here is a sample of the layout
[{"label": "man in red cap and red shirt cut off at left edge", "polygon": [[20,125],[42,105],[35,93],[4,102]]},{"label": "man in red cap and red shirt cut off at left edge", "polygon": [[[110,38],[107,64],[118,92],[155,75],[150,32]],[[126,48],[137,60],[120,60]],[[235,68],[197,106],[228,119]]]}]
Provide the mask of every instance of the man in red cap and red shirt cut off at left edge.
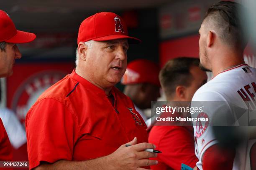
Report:
[{"label": "man in red cap and red shirt cut off at left edge", "polygon": [[[9,15],[0,10],[0,77],[7,77],[13,73],[15,59],[20,59],[17,43],[31,42],[36,35],[16,30]],[[12,148],[8,135],[0,119],[0,160],[12,160]]]}]

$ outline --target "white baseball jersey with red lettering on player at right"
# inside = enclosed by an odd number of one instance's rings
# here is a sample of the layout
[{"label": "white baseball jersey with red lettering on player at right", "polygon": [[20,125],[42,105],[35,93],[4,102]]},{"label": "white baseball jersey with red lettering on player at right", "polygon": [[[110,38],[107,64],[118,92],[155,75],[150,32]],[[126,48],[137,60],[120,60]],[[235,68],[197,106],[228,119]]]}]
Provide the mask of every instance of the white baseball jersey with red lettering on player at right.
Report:
[{"label": "white baseball jersey with red lettering on player at right", "polygon": [[[256,69],[249,67],[247,64],[241,64],[216,75],[212,80],[195,92],[192,99],[192,107],[199,105],[198,102],[194,103],[194,101],[221,101],[223,105],[220,104],[220,102],[216,102],[216,104],[214,104],[214,102],[205,102],[203,113],[192,115],[192,117],[209,117],[209,120],[211,121],[214,119],[214,116],[216,116],[216,114],[218,115],[220,112],[224,112],[224,114],[225,112],[230,112],[233,114],[233,117],[235,117],[235,125],[241,125],[240,122],[243,122],[244,125],[244,122],[250,122],[251,120],[255,121],[256,115],[250,115],[251,117],[246,114],[237,116],[233,113],[233,106],[231,106],[230,103],[244,108],[244,110],[248,110],[248,108],[256,110],[255,100]],[[222,117],[220,114],[217,119],[220,122],[230,121],[230,119],[225,119],[225,116],[223,115]],[[205,150],[218,143],[218,141],[213,134],[212,126],[207,123],[194,123],[194,135],[195,154],[199,159],[197,167],[202,170],[202,157]],[[255,167],[251,167],[250,153],[253,153],[251,150],[252,148],[254,148],[254,150],[256,149],[256,139],[249,140],[248,135],[245,135],[245,138],[246,143],[236,150],[233,170],[255,169]]]}]

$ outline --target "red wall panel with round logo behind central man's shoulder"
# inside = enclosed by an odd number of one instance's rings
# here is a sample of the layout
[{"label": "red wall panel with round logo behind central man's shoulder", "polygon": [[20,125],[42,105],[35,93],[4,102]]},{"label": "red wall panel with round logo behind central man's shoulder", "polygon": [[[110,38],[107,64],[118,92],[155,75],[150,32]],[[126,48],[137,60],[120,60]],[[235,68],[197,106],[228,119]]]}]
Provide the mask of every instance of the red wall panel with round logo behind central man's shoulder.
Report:
[{"label": "red wall panel with round logo behind central man's shoulder", "polygon": [[20,63],[6,79],[6,106],[22,124],[37,98],[74,69],[73,62]]}]

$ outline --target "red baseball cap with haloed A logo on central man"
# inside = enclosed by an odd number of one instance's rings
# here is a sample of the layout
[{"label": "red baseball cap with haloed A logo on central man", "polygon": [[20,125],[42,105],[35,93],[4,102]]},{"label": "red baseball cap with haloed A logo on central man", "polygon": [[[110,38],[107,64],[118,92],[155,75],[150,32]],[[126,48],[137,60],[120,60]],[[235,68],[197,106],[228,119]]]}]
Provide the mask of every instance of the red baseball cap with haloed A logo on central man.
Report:
[{"label": "red baseball cap with haloed A logo on central man", "polygon": [[141,43],[138,38],[128,36],[127,26],[119,15],[101,12],[83,20],[78,31],[77,44],[81,41],[106,41],[120,38],[127,38],[131,44]]}]

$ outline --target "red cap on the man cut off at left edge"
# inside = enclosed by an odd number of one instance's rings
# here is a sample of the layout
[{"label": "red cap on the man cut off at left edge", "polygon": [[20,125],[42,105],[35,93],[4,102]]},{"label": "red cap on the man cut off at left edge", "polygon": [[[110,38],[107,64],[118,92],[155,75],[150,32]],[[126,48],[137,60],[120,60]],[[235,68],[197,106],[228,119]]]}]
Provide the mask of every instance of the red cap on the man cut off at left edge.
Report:
[{"label": "red cap on the man cut off at left edge", "polygon": [[35,40],[36,35],[16,30],[9,15],[0,10],[0,42],[26,43]]}]

